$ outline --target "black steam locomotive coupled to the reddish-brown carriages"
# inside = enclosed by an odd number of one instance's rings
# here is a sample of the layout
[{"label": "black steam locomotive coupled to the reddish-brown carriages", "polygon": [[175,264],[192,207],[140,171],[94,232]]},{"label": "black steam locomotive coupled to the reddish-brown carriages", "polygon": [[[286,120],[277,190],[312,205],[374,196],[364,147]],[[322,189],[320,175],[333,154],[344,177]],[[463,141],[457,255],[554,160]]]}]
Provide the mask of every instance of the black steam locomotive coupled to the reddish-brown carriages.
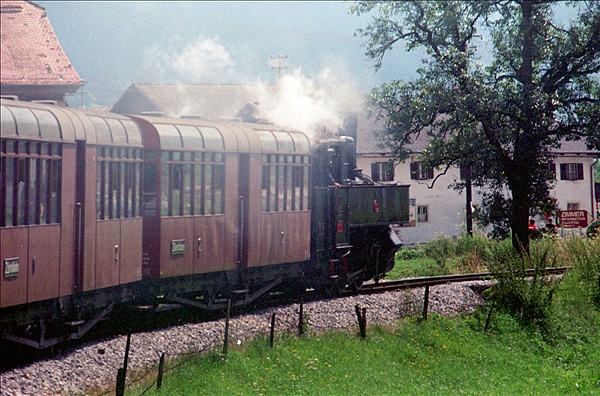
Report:
[{"label": "black steam locomotive coupled to the reddish-brown carriages", "polygon": [[392,225],[408,221],[408,186],[375,184],[356,168],[354,139],[332,137],[313,151],[311,257],[327,286],[358,289],[394,265],[401,242]]}]

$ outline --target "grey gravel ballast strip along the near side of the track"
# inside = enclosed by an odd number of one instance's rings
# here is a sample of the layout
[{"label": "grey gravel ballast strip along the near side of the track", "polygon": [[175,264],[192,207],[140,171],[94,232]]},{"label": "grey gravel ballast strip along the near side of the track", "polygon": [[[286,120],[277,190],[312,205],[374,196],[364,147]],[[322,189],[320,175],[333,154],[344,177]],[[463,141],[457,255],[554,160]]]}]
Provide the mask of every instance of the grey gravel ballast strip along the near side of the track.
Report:
[{"label": "grey gravel ballast strip along the near side of the track", "polygon": [[[442,315],[472,312],[484,301],[471,286],[483,284],[486,282],[431,287],[428,312]],[[356,305],[367,309],[368,325],[386,324],[409,314],[420,314],[423,294],[424,289],[421,288],[333,298],[304,303],[303,312],[309,318],[307,329],[310,332],[351,330],[358,328]],[[268,335],[273,312],[276,314],[277,332],[297,331],[299,304],[292,304],[232,317],[230,342],[243,344],[257,335]],[[222,348],[224,329],[225,319],[221,319],[133,334],[129,351],[128,383],[131,373],[139,375],[152,371],[150,375],[155,376],[155,367],[162,353],[170,359],[211,348]],[[2,372],[1,394],[74,395],[114,388],[117,370],[123,366],[126,339],[126,336],[119,336],[96,341],[49,360]]]}]

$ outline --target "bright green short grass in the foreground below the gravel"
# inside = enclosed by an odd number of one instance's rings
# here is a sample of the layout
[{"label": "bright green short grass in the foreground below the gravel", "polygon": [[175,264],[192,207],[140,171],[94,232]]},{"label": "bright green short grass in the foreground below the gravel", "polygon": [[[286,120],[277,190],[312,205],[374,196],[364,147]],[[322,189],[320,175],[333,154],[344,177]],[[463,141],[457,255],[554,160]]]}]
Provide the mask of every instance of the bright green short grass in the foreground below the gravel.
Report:
[{"label": "bright green short grass in the foreground below the gravel", "polygon": [[[367,339],[331,332],[265,339],[170,371],[148,395],[569,395],[600,394],[600,336],[550,347],[509,317],[484,333],[476,319],[430,316]],[[148,386],[148,385],[146,385]],[[127,394],[139,394],[142,388]]]}]

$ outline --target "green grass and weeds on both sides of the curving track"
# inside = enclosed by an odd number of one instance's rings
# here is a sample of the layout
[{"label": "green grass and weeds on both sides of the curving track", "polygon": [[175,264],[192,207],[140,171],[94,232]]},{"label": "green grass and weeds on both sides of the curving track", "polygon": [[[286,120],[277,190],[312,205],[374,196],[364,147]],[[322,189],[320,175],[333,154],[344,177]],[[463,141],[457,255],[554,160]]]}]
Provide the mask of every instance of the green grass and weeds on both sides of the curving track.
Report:
[{"label": "green grass and weeds on both sides of the curving track", "polygon": [[279,336],[269,348],[265,336],[230,349],[227,359],[218,352],[195,357],[169,371],[161,391],[152,387],[146,394],[600,395],[600,240],[535,242],[526,259],[502,243],[477,241],[470,251],[459,246],[473,241],[435,243],[423,249],[437,260],[412,258],[422,265],[400,268],[400,276],[427,275],[436,266],[435,273],[476,264],[486,270],[483,262],[493,271],[566,264],[574,270],[552,282],[503,278],[488,296],[494,309],[487,331],[491,304],[469,317],[433,315],[426,322],[412,317],[389,328],[372,326],[366,340],[357,332],[309,332]]}]

